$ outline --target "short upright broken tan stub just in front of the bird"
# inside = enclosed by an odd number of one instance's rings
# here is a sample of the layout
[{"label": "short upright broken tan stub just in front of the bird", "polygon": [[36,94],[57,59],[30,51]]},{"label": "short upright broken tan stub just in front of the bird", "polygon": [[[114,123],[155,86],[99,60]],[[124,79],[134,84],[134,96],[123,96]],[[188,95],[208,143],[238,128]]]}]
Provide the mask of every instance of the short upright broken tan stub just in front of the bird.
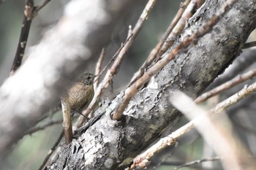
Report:
[{"label": "short upright broken tan stub just in front of the bird", "polygon": [[65,144],[72,142],[72,121],[69,107],[69,97],[67,95],[61,96],[61,106],[63,115],[63,127],[65,135]]}]

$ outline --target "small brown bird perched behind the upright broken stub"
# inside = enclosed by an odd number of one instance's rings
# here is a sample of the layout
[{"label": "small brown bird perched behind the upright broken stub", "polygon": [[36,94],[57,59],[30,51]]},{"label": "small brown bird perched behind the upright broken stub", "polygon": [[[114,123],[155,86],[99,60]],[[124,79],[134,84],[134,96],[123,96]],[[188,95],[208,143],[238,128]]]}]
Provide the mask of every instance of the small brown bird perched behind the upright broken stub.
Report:
[{"label": "small brown bird perched behind the upright broken stub", "polygon": [[75,82],[68,90],[69,107],[71,115],[78,113],[81,115],[91,103],[94,97],[94,74],[84,73],[78,82]]}]

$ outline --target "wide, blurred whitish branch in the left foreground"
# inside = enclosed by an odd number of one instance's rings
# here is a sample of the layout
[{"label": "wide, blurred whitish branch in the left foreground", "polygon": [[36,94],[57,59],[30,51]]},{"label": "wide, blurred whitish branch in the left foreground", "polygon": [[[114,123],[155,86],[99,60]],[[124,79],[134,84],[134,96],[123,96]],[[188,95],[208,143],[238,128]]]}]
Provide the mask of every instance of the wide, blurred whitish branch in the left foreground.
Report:
[{"label": "wide, blurred whitish branch in the left foreground", "polygon": [[135,7],[132,4],[130,0],[69,3],[57,26],[0,88],[0,161],[110,42],[113,29]]}]

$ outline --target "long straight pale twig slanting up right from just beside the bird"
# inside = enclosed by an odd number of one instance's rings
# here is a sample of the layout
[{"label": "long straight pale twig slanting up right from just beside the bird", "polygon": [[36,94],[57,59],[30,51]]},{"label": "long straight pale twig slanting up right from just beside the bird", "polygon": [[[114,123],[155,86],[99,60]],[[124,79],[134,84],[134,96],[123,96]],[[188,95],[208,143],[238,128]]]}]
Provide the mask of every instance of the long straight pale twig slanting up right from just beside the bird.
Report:
[{"label": "long straight pale twig slanting up right from just beside the bird", "polygon": [[[116,61],[113,63],[111,68],[108,70],[108,72],[105,75],[102,82],[99,84],[99,87],[97,88],[97,90],[95,92],[94,99],[91,101],[89,108],[94,108],[95,105],[97,105],[98,98],[102,95],[102,93],[105,91],[105,89],[108,88],[108,85],[110,85],[110,82],[113,80],[113,77],[116,76],[118,68],[119,68],[119,66],[121,66],[121,61],[123,60],[124,55],[127,53],[127,50],[129,50],[129,47],[132,46],[132,43],[134,42],[135,37],[140,32],[140,29],[142,28],[143,23],[145,23],[145,21],[147,20],[148,15],[150,14],[151,9],[154,7],[154,4],[156,3],[156,1],[157,0],[149,0],[148,3],[146,4],[145,9],[143,9],[143,12],[140,15],[140,18],[138,19],[138,22],[135,24],[135,28],[132,29],[132,33],[129,33],[130,36],[128,35],[128,37],[130,37],[130,38],[127,38],[128,39],[127,43],[120,50],[120,53],[118,53],[118,56],[116,58]],[[89,112],[87,112],[87,114],[88,113]],[[78,127],[80,125],[82,125],[83,122],[84,122],[84,118],[80,117],[78,119]]]}]

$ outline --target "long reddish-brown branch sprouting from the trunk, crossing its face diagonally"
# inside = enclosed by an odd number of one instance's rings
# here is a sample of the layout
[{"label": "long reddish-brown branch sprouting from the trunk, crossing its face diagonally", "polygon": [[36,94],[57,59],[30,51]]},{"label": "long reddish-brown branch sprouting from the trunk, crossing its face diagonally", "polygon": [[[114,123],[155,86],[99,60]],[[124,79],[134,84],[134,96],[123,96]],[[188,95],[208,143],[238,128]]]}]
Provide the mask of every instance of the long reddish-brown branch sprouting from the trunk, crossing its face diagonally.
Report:
[{"label": "long reddish-brown branch sprouting from the trunk, crossing its face diagonally", "polygon": [[140,90],[140,88],[146,82],[148,82],[148,80],[154,74],[156,74],[160,69],[162,69],[167,63],[172,61],[173,58],[175,58],[178,53],[181,53],[181,51],[189,47],[189,45],[191,45],[192,42],[197,41],[198,38],[211,31],[211,28],[222,18],[225,12],[227,12],[227,10],[229,9],[228,7],[232,5],[235,1],[237,0],[226,1],[226,3],[223,4],[222,8],[219,9],[217,15],[214,15],[210,20],[208,20],[208,22],[204,23],[203,26],[200,26],[200,28],[198,28],[198,30],[194,34],[192,34],[191,36],[187,36],[184,39],[184,41],[182,41],[170,53],[167,53],[162,59],[155,63],[154,66],[151,66],[151,68],[148,69],[148,71],[145,72],[145,74],[143,74],[143,76],[135,82],[135,85],[132,85],[132,87],[127,88],[121,103],[118,104],[116,112],[113,112],[113,119],[120,120],[121,116],[123,115],[124,109],[127,107],[129,101],[132,99],[133,96],[135,96],[138,90]]}]

